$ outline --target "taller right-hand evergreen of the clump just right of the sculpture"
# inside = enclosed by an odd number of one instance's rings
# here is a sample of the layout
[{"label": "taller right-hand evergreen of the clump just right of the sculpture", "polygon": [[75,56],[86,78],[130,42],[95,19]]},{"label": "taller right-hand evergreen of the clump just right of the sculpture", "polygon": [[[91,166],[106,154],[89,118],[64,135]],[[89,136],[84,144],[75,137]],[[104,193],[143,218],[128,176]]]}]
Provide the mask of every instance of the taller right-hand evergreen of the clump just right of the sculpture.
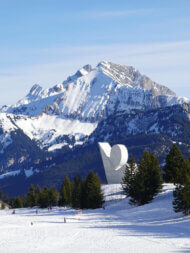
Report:
[{"label": "taller right-hand evergreen of the clump just right of the sculpture", "polygon": [[130,202],[144,205],[150,202],[161,188],[162,178],[158,159],[154,154],[145,151],[135,177],[132,179]]}]

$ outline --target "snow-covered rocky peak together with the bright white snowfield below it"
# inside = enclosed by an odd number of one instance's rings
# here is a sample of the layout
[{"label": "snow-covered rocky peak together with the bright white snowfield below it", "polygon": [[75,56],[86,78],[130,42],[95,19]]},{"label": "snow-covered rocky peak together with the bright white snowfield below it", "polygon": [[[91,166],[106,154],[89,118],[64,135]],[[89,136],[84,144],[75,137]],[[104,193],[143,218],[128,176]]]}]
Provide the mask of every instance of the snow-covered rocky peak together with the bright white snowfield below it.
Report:
[{"label": "snow-covered rocky peak together with the bright white snowfield below it", "polygon": [[111,115],[184,102],[189,100],[177,97],[135,68],[103,61],[95,68],[84,66],[53,88],[34,85],[26,97],[4,106],[1,112],[8,121],[11,119],[14,128],[52,151],[83,144],[98,123]]}]

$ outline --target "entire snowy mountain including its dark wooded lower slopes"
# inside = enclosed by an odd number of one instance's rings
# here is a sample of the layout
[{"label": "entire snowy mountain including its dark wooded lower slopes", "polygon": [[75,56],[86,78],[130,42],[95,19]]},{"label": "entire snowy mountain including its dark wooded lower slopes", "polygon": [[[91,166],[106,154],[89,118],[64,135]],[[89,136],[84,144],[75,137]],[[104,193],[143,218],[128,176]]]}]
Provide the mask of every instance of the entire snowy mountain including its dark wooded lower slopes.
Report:
[{"label": "entire snowy mountain including its dark wooded lower slopes", "polygon": [[148,148],[163,159],[174,141],[189,150],[189,129],[189,99],[131,66],[86,65],[62,84],[36,84],[16,104],[0,109],[0,178],[23,170],[49,178],[49,168],[55,180],[85,175],[86,169],[102,176],[98,141],[123,143],[137,156]]}]

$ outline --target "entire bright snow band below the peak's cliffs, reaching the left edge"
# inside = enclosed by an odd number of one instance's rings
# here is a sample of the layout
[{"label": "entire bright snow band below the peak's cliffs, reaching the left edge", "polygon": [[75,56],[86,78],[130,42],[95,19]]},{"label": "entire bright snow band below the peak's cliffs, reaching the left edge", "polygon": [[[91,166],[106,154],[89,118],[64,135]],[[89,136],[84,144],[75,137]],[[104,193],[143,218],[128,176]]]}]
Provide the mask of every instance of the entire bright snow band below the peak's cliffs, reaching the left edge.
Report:
[{"label": "entire bright snow band below the peak's cliffs, reaching the left edge", "polygon": [[96,127],[97,122],[81,122],[45,113],[38,117],[0,113],[0,153],[12,143],[11,133],[16,130],[22,130],[41,148],[54,151],[65,145],[72,148],[83,144]]}]

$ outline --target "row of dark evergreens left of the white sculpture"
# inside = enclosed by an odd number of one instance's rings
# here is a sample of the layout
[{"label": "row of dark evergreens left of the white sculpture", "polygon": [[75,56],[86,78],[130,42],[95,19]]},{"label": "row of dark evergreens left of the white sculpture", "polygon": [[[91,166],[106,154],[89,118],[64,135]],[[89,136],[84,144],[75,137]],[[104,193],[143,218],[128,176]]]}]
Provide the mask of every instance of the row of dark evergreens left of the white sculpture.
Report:
[{"label": "row of dark evergreens left of the white sculpture", "polygon": [[76,177],[71,183],[65,177],[58,192],[54,186],[41,189],[31,185],[26,196],[16,197],[12,200],[13,208],[34,207],[47,208],[52,206],[70,206],[73,208],[100,208],[104,200],[101,184],[97,175],[91,171],[85,179]]}]

